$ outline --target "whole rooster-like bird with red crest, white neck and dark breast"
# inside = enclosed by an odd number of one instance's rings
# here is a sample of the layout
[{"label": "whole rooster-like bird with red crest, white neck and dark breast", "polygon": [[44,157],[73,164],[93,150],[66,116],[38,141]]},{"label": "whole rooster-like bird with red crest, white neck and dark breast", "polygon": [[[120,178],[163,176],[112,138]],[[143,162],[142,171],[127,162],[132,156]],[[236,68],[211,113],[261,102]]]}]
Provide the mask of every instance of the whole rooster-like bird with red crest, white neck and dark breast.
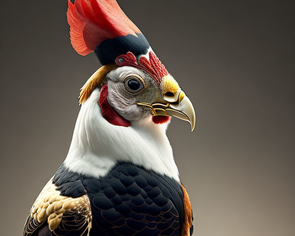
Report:
[{"label": "whole rooster-like bird with red crest, white neck and dark breast", "polygon": [[80,90],[68,154],[23,236],[190,236],[193,216],[166,135],[195,110],[115,0],[68,1],[71,45],[102,65]]}]

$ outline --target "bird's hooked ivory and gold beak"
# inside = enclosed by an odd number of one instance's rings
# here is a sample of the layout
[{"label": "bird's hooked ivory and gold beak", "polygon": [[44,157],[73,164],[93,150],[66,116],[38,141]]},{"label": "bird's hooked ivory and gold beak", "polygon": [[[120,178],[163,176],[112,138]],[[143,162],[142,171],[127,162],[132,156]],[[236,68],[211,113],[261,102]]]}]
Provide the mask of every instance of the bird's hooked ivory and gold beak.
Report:
[{"label": "bird's hooked ivory and gold beak", "polygon": [[191,131],[195,128],[196,114],[194,106],[182,90],[178,90],[176,94],[165,94],[163,101],[160,102],[153,104],[138,102],[137,104],[149,107],[153,115],[174,116],[186,120],[191,124]]}]

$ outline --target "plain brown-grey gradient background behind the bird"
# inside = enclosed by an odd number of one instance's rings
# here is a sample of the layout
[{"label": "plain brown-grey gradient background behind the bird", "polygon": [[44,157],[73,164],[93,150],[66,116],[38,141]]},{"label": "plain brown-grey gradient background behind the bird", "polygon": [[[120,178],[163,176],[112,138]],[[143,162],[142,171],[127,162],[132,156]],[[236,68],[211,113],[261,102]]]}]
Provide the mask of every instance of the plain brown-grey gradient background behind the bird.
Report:
[{"label": "plain brown-grey gradient background behind the bird", "polygon": [[[193,133],[175,118],[168,131],[194,235],[295,235],[291,2],[119,1],[196,109]],[[71,47],[66,9],[1,2],[1,235],[22,235],[100,67]]]}]

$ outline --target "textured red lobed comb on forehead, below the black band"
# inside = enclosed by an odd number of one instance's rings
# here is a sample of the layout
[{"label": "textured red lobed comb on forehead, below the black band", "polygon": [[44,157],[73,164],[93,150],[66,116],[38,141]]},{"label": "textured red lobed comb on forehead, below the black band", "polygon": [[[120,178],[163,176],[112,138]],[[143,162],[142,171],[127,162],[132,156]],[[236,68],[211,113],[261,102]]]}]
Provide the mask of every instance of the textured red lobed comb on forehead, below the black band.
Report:
[{"label": "textured red lobed comb on forehead, below the black band", "polygon": [[149,52],[150,60],[146,57],[141,57],[137,63],[135,55],[128,52],[126,55],[120,55],[115,62],[119,66],[129,65],[134,66],[148,72],[157,84],[160,84],[162,78],[169,74],[165,66],[161,63],[159,58],[153,52]]}]

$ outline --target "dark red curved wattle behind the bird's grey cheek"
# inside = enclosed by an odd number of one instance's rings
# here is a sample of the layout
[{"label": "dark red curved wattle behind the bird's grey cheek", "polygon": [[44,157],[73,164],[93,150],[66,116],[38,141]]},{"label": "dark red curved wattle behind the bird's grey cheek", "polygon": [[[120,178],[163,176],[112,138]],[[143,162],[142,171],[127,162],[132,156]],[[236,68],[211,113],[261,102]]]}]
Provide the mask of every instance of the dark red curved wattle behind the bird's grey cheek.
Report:
[{"label": "dark red curved wattle behind the bird's grey cheek", "polygon": [[119,126],[124,126],[128,127],[131,125],[130,121],[127,119],[123,118],[110,106],[108,99],[108,86],[104,84],[101,87],[100,90],[100,95],[99,95],[99,106],[101,108],[101,113],[104,119],[106,119],[109,123],[114,124],[114,125],[119,125]]}]

